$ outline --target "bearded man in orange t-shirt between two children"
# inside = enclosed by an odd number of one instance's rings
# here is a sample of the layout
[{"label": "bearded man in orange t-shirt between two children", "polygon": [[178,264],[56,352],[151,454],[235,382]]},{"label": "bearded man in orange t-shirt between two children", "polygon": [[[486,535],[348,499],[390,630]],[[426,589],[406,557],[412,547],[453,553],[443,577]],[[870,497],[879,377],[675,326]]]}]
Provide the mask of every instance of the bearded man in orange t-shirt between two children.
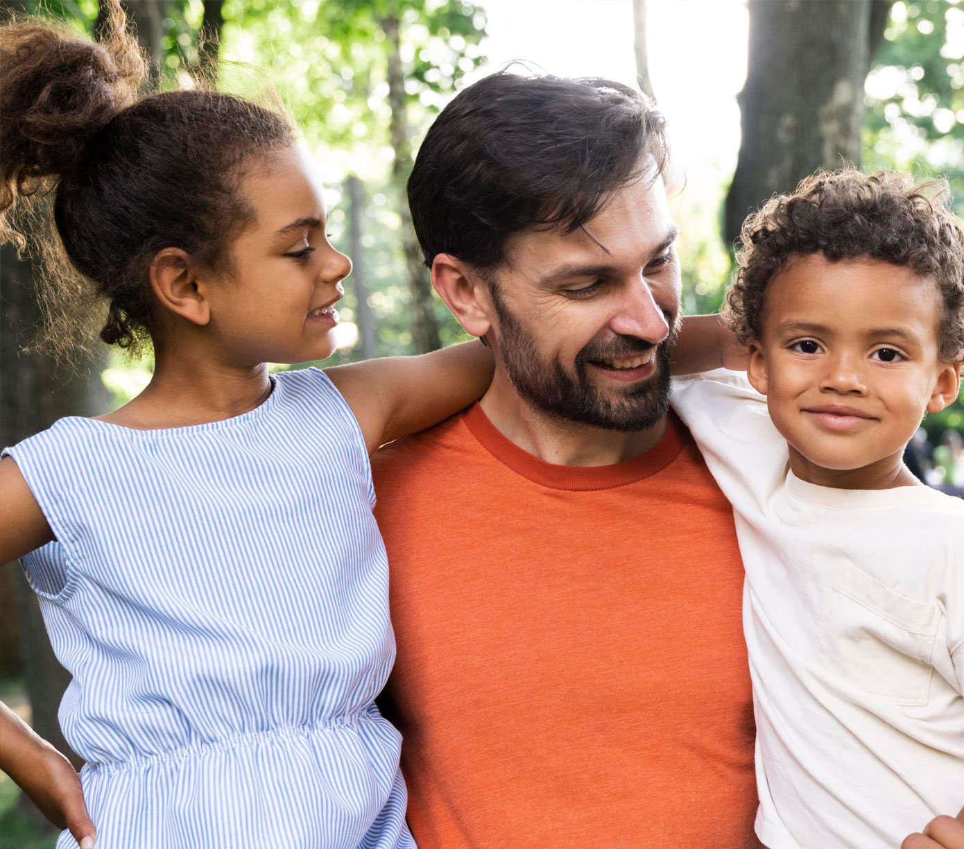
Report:
[{"label": "bearded man in orange t-shirt between two children", "polygon": [[509,73],[419,150],[433,285],[496,360],[374,462],[420,849],[757,845],[733,519],[668,408],[666,160],[640,94]]}]

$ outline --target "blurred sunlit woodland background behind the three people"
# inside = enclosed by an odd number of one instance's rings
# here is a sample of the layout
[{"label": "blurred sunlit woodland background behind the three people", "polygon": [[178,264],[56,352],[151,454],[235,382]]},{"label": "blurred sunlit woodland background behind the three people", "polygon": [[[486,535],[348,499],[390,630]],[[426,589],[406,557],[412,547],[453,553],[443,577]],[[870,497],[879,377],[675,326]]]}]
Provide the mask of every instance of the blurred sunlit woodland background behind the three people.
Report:
[{"label": "blurred sunlit woodland background behind the three people", "polygon": [[[463,338],[432,293],[404,186],[444,104],[480,76],[534,72],[636,84],[670,122],[681,189],[683,304],[715,310],[748,211],[817,168],[947,176],[964,212],[961,0],[128,0],[161,89],[214,78],[280,95],[319,163],[346,281],[327,364],[428,351]],[[0,0],[96,36],[97,0]],[[2,120],[2,116],[0,116]],[[189,202],[189,199],[188,199]],[[24,354],[40,322],[29,260],[0,249],[0,443],[62,415],[97,414],[146,385],[150,360],[103,354],[76,373]],[[928,416],[908,462],[964,491],[964,407]],[[66,674],[18,570],[0,571],[0,699],[66,748]],[[0,849],[52,847],[0,775]]]}]

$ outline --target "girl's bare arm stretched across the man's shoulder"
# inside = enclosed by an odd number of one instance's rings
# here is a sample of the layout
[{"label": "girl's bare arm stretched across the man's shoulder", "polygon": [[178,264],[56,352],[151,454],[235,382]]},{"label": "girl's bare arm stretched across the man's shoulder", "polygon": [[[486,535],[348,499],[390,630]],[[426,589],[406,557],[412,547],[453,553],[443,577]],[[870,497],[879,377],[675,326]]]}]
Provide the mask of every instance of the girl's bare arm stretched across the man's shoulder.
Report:
[{"label": "girl's bare arm stretched across the man's shoulder", "polygon": [[495,360],[479,342],[418,357],[366,359],[325,369],[362,426],[368,452],[465,410],[492,383]]}]

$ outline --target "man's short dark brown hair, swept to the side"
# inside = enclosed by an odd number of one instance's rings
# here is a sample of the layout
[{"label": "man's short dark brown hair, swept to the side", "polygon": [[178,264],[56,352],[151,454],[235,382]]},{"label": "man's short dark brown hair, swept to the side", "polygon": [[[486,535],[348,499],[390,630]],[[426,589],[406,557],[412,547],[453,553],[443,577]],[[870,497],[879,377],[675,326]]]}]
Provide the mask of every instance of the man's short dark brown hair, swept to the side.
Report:
[{"label": "man's short dark brown hair, swept to the side", "polygon": [[492,269],[513,233],[572,232],[667,159],[662,115],[629,86],[494,73],[442,110],[415,157],[409,206],[425,264],[451,253]]}]

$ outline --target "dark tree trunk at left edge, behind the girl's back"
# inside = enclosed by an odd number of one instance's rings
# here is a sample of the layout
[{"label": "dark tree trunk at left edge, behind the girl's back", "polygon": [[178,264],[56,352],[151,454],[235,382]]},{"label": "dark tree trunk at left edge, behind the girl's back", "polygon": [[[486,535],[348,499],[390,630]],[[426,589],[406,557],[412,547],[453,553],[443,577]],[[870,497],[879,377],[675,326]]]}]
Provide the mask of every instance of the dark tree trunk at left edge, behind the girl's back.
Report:
[{"label": "dark tree trunk at left edge, behind the girl's back", "polygon": [[[0,444],[13,445],[65,415],[91,415],[107,409],[100,382],[103,363],[84,363],[76,374],[58,369],[52,359],[24,354],[30,329],[40,326],[40,310],[30,264],[17,259],[10,245],[0,248]],[[5,577],[19,572],[4,567]],[[40,619],[37,598],[22,574],[14,580],[20,623],[23,678],[33,711],[33,726],[69,754],[57,723],[57,707],[69,676],[57,662]]]}]

